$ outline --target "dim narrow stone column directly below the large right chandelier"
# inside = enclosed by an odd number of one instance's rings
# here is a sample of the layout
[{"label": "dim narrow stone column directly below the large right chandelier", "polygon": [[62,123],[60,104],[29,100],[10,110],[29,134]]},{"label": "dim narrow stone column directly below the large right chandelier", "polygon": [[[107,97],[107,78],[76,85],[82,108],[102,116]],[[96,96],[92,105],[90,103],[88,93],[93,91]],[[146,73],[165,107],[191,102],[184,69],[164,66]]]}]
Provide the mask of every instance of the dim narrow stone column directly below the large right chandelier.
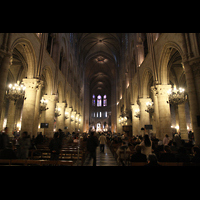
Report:
[{"label": "dim narrow stone column directly below the large right chandelier", "polygon": [[182,140],[188,140],[186,116],[185,116],[185,103],[178,105],[178,117],[179,117],[179,130]]}]

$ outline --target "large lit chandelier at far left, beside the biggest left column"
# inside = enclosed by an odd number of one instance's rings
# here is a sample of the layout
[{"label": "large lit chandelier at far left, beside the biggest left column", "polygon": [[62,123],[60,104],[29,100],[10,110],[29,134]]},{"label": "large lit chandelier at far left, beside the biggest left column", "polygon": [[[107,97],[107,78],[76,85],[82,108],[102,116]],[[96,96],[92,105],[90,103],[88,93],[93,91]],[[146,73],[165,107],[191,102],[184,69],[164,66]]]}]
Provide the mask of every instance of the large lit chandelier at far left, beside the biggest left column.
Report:
[{"label": "large lit chandelier at far left, beside the biggest left column", "polygon": [[14,104],[18,99],[26,99],[25,98],[25,89],[24,84],[20,84],[20,81],[17,81],[15,84],[9,84],[8,90],[6,90],[6,98],[13,100]]}]

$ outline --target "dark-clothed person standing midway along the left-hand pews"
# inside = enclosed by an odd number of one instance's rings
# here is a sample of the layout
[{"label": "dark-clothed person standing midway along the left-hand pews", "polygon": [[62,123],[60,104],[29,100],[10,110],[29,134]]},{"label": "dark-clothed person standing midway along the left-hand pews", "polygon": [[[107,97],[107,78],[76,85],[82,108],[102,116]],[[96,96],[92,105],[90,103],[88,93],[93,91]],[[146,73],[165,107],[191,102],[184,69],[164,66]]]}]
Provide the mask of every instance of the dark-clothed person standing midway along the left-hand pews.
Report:
[{"label": "dark-clothed person standing midway along the left-hand pews", "polygon": [[54,138],[49,144],[49,149],[51,151],[51,160],[59,160],[59,153],[61,149],[61,140],[59,139],[59,133],[54,133]]}]

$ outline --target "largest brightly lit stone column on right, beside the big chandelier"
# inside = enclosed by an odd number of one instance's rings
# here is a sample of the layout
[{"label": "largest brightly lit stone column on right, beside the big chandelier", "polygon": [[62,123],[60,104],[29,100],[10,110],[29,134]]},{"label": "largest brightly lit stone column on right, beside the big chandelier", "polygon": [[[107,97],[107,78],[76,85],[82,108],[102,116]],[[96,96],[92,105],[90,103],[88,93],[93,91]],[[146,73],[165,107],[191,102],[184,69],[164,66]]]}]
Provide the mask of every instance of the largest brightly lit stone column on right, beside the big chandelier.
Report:
[{"label": "largest brightly lit stone column on right, beside the big chandelier", "polygon": [[156,85],[157,98],[158,98],[158,110],[160,121],[160,138],[163,139],[166,134],[171,133],[171,113],[170,105],[168,101],[168,91],[171,89],[171,85]]}]

